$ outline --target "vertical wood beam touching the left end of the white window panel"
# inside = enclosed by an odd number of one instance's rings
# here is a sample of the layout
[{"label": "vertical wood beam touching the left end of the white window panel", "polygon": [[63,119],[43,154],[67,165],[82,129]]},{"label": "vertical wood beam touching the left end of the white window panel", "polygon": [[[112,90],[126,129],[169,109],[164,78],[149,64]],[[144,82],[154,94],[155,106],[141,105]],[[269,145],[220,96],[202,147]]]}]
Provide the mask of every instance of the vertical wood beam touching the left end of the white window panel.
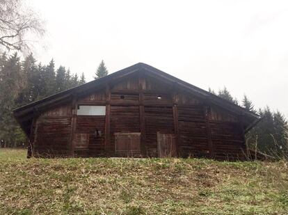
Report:
[{"label": "vertical wood beam touching the left end of the white window panel", "polygon": [[75,142],[74,142],[74,134],[76,131],[77,124],[77,95],[72,95],[72,117],[71,117],[71,132],[70,132],[70,155],[74,157],[75,153]]}]

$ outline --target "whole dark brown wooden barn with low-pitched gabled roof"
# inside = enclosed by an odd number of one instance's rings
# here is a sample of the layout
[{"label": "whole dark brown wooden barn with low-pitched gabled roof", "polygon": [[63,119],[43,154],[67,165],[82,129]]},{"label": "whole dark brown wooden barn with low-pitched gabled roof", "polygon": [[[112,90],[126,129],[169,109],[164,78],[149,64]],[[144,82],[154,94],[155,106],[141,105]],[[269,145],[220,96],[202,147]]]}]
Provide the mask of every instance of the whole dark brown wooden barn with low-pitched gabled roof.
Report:
[{"label": "whole dark brown wooden barn with low-pitched gabled roof", "polygon": [[22,106],[35,157],[245,159],[259,116],[145,63]]}]

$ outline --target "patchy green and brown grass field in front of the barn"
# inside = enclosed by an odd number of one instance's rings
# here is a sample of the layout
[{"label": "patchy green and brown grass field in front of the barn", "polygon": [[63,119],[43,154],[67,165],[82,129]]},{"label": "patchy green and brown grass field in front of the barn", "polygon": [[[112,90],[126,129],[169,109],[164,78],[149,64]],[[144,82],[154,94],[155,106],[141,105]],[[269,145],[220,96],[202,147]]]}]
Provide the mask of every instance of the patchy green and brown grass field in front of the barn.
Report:
[{"label": "patchy green and brown grass field in front of the barn", "polygon": [[288,214],[288,164],[26,159],[0,149],[0,214]]}]

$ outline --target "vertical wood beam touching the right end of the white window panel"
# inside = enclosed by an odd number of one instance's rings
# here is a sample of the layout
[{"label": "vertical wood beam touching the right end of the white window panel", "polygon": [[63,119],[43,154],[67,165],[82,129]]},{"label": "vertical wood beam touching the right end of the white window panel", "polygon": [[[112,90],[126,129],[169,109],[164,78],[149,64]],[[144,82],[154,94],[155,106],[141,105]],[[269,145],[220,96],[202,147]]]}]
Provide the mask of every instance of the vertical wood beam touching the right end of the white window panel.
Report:
[{"label": "vertical wood beam touching the right end of the white window panel", "polygon": [[113,154],[113,146],[110,143],[110,118],[111,118],[111,89],[110,86],[106,86],[106,117],[105,117],[105,141],[104,141],[104,150],[106,155]]}]

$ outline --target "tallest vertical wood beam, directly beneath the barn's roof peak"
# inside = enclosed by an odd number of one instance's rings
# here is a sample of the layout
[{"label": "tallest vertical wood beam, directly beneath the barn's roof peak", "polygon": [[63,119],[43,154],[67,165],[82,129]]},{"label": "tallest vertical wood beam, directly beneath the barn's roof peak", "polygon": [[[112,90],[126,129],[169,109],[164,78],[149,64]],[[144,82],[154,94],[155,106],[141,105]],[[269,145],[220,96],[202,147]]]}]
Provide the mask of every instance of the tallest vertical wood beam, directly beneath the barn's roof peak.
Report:
[{"label": "tallest vertical wood beam, directly beneath the barn's roof peak", "polygon": [[140,132],[141,132],[141,154],[143,157],[147,157],[147,145],[146,145],[146,131],[145,131],[145,109],[143,105],[144,90],[146,88],[145,77],[139,75],[138,88],[139,88],[139,120],[140,120]]}]

